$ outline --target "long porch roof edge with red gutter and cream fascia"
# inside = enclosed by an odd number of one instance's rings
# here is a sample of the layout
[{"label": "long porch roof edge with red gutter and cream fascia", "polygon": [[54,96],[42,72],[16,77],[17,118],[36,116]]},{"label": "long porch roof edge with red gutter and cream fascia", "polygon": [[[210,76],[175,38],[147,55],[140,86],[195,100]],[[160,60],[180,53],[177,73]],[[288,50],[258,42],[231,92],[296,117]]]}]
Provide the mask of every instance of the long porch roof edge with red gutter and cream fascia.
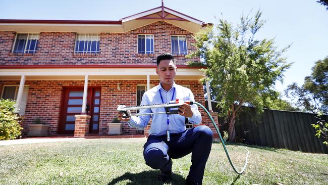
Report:
[{"label": "long porch roof edge with red gutter and cream fascia", "polygon": [[[178,65],[177,80],[199,80],[199,67]],[[156,65],[0,65],[0,80],[145,80],[158,79]]]}]

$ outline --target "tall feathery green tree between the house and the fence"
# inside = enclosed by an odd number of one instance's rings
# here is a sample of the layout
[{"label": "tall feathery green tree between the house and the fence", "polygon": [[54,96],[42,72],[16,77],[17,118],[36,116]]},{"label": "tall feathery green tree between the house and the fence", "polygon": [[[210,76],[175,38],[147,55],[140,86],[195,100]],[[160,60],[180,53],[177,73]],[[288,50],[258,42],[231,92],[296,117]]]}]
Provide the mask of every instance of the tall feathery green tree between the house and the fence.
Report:
[{"label": "tall feathery green tree between the house and the fence", "polygon": [[220,19],[213,27],[195,35],[197,50],[190,57],[200,57],[206,66],[206,74],[216,94],[221,116],[229,120],[229,141],[234,141],[236,116],[242,105],[255,106],[257,113],[267,106],[267,100],[276,99],[273,89],[276,80],[282,81],[282,73],[290,67],[282,54],[289,48],[278,50],[274,39],[255,39],[263,26],[258,11],[254,18],[241,17],[240,24]]}]

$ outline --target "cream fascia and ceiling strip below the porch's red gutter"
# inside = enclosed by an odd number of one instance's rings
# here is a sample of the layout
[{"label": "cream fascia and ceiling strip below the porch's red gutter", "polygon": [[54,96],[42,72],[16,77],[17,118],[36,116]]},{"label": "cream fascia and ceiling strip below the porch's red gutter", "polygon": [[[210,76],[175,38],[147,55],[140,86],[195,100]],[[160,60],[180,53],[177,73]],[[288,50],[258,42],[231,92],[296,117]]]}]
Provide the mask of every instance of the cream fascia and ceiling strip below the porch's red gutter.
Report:
[{"label": "cream fascia and ceiling strip below the porch's red gutter", "polygon": [[[147,80],[158,79],[155,69],[150,68],[82,68],[82,69],[0,69],[0,80]],[[177,80],[199,80],[204,74],[199,69],[178,68]]]}]

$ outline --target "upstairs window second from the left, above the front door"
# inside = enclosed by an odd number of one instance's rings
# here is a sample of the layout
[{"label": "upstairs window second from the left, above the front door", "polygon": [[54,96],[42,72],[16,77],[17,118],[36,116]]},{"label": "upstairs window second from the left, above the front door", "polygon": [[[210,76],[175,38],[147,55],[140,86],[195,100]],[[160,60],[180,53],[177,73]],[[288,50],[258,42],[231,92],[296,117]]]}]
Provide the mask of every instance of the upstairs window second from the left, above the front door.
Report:
[{"label": "upstairs window second from the left, above the front door", "polygon": [[75,42],[75,53],[99,53],[98,34],[78,34]]}]

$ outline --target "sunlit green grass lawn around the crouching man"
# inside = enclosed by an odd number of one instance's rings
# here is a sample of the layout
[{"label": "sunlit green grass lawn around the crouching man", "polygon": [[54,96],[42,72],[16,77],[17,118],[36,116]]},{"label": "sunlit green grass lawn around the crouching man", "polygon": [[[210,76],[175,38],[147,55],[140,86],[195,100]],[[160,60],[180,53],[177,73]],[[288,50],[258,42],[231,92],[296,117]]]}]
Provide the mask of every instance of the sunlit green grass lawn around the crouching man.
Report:
[{"label": "sunlit green grass lawn around the crouching man", "polygon": [[[148,167],[145,138],[89,139],[0,146],[0,184],[163,184]],[[236,174],[221,143],[213,143],[203,184],[328,184],[328,155],[227,145],[238,169],[250,151],[249,164]],[[173,160],[173,180],[184,184],[191,155]]]}]

